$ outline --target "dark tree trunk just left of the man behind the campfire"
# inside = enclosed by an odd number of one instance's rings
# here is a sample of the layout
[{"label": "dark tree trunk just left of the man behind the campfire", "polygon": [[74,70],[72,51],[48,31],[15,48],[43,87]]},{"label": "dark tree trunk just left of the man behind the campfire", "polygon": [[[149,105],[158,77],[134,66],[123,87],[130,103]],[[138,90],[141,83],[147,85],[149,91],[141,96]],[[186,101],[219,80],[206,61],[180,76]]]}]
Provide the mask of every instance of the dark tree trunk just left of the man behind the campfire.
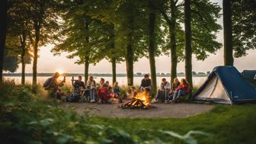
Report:
[{"label": "dark tree trunk just left of the man behind the campfire", "polygon": [[126,73],[128,85],[133,85],[133,55],[134,55],[134,5],[130,5],[130,15],[128,16],[128,32],[127,32],[127,46],[126,46]]}]

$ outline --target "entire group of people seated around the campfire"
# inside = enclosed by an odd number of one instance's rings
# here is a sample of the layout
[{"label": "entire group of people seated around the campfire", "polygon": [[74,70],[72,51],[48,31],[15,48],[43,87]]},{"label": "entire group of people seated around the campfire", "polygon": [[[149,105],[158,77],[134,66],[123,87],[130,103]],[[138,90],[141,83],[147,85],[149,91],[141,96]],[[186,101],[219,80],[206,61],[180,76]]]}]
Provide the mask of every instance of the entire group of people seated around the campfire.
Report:
[{"label": "entire group of people seated around the campfire", "polygon": [[[48,78],[43,84],[43,87],[50,92],[50,96],[56,99],[61,99],[62,91],[61,87],[64,85],[66,78],[62,82],[59,82],[59,73],[56,72],[53,77]],[[93,76],[89,76],[88,81],[82,82],[82,76],[79,75],[77,80],[72,82],[74,93],[80,94],[82,96],[88,95],[90,97],[91,103],[112,103],[116,99],[119,103],[122,103],[120,88],[118,82],[114,82],[113,87],[110,86],[108,81],[105,82],[104,78],[101,78],[99,86],[97,87]],[[139,86],[139,91],[148,91],[151,97],[152,94],[152,84],[149,75],[144,75],[142,78],[141,85]],[[155,99],[152,103],[157,103],[165,101],[165,103],[175,103],[176,100],[184,95],[187,95],[190,91],[190,86],[186,79],[181,78],[179,82],[178,78],[174,78],[172,85],[167,82],[166,78],[162,78],[161,86],[158,89]],[[97,94],[96,94],[97,92]],[[136,87],[130,87],[130,98],[136,98]]]}]

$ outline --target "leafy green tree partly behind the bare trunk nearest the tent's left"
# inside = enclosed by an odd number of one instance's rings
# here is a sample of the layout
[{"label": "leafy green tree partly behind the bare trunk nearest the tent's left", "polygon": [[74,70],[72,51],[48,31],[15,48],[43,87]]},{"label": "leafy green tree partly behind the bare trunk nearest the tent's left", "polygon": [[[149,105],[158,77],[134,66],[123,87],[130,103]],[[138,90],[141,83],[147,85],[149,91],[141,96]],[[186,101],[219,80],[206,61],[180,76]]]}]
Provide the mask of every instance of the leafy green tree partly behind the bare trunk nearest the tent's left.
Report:
[{"label": "leafy green tree partly behind the bare trunk nearest the tent's left", "polygon": [[[158,11],[168,25],[168,45],[164,51],[171,49],[171,82],[177,77],[177,63],[185,59],[184,54],[184,2],[177,0],[162,0],[159,2]],[[216,33],[221,29],[217,24],[219,5],[209,0],[191,2],[191,46],[192,53],[198,60],[204,60],[209,53],[215,53],[221,48],[221,43],[216,41]],[[171,48],[170,48],[171,47]],[[168,53],[166,53],[168,54]]]}]

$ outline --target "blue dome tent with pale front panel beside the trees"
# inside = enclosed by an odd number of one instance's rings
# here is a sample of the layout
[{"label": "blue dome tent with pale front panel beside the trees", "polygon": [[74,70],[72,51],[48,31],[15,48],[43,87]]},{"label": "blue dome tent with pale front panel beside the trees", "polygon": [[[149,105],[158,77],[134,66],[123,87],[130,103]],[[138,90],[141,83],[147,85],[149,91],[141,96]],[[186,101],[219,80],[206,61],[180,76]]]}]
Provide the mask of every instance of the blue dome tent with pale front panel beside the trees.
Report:
[{"label": "blue dome tent with pale front panel beside the trees", "polygon": [[234,66],[217,66],[196,91],[193,100],[221,104],[256,102],[256,90]]}]

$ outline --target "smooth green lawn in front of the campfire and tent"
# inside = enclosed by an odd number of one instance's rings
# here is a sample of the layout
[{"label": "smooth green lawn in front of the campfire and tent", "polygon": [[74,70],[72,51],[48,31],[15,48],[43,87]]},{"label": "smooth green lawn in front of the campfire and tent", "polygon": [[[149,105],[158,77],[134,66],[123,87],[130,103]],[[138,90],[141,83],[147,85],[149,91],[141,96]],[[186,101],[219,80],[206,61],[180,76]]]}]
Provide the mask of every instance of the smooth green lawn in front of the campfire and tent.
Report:
[{"label": "smooth green lawn in front of the campfire and tent", "polygon": [[[206,114],[195,117],[168,119],[130,119],[91,117],[93,123],[116,126],[138,136],[150,133],[161,139],[167,135],[157,130],[171,130],[185,134],[190,130],[210,133],[210,136],[196,136],[199,143],[255,143],[256,142],[256,104],[217,105]],[[138,133],[144,129],[144,133]]]}]

